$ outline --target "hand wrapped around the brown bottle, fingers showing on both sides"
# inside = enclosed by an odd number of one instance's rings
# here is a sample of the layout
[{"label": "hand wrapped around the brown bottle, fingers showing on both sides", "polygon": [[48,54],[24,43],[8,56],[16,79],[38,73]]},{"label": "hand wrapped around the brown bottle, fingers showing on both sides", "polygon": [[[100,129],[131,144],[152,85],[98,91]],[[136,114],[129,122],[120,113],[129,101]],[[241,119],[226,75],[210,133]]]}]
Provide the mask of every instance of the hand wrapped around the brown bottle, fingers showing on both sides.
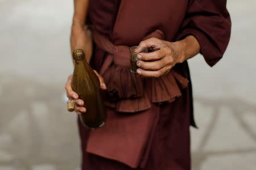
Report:
[{"label": "hand wrapped around the brown bottle, fingers showing on both sides", "polygon": [[[94,70],[94,72],[96,73],[96,75],[98,76],[98,79],[100,80],[100,88],[102,90],[106,90],[106,84],[104,83],[104,79],[100,74],[97,73],[96,70]],[[75,91],[73,91],[72,79],[73,79],[73,75],[69,75],[67,83],[65,84],[65,90],[67,93],[67,97],[75,101],[75,112],[78,114],[81,114],[86,112],[86,108],[84,107],[85,103],[83,100],[79,99],[79,95]]]}]

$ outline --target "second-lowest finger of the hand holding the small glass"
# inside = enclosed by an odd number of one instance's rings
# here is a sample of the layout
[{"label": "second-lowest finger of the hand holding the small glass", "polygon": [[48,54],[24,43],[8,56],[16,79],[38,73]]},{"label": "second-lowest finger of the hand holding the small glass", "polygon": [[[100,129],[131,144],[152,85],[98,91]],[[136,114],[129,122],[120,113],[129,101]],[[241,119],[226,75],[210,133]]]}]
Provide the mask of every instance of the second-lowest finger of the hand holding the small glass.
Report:
[{"label": "second-lowest finger of the hand holding the small glass", "polygon": [[168,61],[166,57],[151,62],[137,61],[137,66],[141,67],[143,70],[159,70],[167,64]]}]

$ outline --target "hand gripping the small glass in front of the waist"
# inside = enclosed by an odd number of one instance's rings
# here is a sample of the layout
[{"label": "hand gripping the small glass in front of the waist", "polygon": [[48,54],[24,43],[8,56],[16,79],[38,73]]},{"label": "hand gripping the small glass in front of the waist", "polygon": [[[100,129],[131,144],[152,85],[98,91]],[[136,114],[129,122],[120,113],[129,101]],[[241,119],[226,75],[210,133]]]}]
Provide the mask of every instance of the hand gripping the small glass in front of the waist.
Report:
[{"label": "hand gripping the small glass in front of the waist", "polygon": [[141,76],[159,77],[168,73],[176,63],[183,62],[183,52],[179,41],[168,42],[152,37],[141,41],[139,46],[152,50],[150,53],[138,54],[137,73]]}]

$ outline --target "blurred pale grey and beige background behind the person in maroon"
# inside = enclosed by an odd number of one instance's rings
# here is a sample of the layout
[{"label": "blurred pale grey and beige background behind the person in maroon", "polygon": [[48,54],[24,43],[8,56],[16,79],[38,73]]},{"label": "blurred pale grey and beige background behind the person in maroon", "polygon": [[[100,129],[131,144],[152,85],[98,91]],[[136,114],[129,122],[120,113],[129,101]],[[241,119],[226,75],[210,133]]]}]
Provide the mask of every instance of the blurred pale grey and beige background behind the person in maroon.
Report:
[{"label": "blurred pale grey and beige background behind the person in maroon", "polygon": [[[256,169],[255,6],[228,1],[232,37],[216,66],[189,60],[193,170]],[[64,101],[73,1],[0,0],[0,14],[0,170],[78,170],[76,114]]]}]

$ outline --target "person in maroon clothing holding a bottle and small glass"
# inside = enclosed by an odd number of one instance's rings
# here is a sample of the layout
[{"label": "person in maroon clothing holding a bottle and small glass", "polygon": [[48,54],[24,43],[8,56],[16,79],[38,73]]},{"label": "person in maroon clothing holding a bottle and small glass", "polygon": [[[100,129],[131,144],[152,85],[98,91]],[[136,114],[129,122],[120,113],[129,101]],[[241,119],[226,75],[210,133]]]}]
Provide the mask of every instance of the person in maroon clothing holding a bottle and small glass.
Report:
[{"label": "person in maroon clothing holding a bottle and small glass", "polygon": [[[77,119],[81,169],[191,169],[189,126],[196,124],[187,60],[201,53],[215,65],[230,29],[226,0],[75,0],[71,50],[84,49],[108,94],[104,126],[90,130]],[[137,75],[131,46],[149,49],[138,54]],[[71,83],[72,75],[67,96],[86,114]]]}]

